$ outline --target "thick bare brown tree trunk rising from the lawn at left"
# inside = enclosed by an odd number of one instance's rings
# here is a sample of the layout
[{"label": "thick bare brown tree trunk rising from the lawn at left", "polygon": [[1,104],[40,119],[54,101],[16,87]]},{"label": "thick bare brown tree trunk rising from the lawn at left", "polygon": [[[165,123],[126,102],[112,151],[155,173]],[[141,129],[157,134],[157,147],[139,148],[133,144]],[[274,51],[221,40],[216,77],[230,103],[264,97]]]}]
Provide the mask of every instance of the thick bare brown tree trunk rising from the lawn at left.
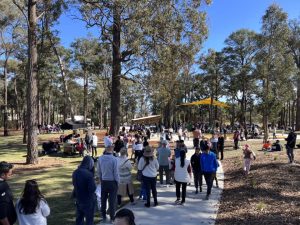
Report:
[{"label": "thick bare brown tree trunk rising from the lawn at left", "polygon": [[28,86],[27,86],[27,164],[38,163],[37,142],[37,37],[36,0],[28,1]]}]

